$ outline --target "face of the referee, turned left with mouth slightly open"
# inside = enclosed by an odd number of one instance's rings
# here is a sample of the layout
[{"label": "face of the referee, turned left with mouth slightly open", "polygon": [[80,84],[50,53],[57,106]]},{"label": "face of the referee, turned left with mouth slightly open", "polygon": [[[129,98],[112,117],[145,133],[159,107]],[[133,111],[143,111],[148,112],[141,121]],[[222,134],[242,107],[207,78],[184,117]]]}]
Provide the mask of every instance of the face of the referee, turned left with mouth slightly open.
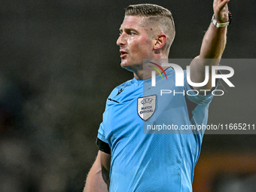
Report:
[{"label": "face of the referee, turned left with mouth slightly open", "polygon": [[133,72],[142,67],[143,59],[154,56],[154,41],[142,26],[144,19],[145,17],[126,16],[117,39],[121,53],[120,66]]}]

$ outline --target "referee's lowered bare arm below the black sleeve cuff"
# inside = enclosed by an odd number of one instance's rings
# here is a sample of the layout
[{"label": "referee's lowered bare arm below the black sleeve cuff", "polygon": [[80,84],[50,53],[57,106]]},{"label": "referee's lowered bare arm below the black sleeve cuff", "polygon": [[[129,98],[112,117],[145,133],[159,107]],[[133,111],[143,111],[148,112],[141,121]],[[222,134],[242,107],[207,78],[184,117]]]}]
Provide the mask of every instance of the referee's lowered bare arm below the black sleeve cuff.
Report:
[{"label": "referee's lowered bare arm below the black sleeve cuff", "polygon": [[110,184],[111,155],[99,151],[87,176],[84,192],[107,192]]}]

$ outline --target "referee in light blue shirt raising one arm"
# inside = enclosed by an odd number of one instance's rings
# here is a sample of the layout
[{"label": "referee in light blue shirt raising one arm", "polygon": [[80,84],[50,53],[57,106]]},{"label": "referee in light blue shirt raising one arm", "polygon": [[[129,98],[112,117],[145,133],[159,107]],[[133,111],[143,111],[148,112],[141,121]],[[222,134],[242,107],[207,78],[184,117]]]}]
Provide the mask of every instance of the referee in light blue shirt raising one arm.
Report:
[{"label": "referee in light blue shirt raising one arm", "polygon": [[[212,22],[203,38],[200,55],[190,63],[190,79],[205,80],[205,66],[217,66],[226,44],[230,14],[229,0],[214,0]],[[189,192],[192,191],[194,166],[197,163],[203,131],[173,134],[144,134],[145,125],[206,124],[212,94],[165,94],[160,87],[176,90],[211,90],[190,87],[184,71],[184,87],[175,87],[175,72],[163,67],[163,76],[152,70],[160,59],[168,62],[169,49],[175,37],[172,14],[158,5],[130,5],[120,26],[117,45],[120,66],[133,72],[134,78],[114,88],[107,99],[96,144],[99,153],[87,176],[84,192]],[[154,59],[145,68],[143,59]],[[211,62],[206,62],[211,59]],[[151,67],[149,67],[151,66]],[[161,78],[165,77],[166,81]],[[152,78],[153,79],[153,78]],[[152,128],[153,129],[153,128]]]}]

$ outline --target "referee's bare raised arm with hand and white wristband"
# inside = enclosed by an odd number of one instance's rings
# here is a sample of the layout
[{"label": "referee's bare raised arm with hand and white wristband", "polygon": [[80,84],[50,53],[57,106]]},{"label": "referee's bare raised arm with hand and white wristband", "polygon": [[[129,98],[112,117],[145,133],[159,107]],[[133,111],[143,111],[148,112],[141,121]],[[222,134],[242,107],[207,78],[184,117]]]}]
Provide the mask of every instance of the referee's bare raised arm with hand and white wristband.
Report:
[{"label": "referee's bare raised arm with hand and white wristband", "polygon": [[[230,0],[214,0],[213,11],[218,23],[227,23],[229,12],[227,3]],[[217,66],[226,45],[227,26],[217,27],[210,24],[200,50],[200,55],[190,63],[190,78],[194,83],[205,80],[205,66],[209,66],[209,81],[204,87],[194,87],[195,90],[210,90],[212,88],[212,66]]]}]

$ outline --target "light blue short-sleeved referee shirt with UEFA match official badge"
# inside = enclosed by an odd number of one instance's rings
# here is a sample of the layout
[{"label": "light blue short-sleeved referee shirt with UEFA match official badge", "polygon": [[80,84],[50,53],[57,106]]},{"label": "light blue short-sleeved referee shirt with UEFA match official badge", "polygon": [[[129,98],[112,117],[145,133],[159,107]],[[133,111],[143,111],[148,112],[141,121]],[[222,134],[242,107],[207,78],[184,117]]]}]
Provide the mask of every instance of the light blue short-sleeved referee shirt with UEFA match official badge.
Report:
[{"label": "light blue short-sleeved referee shirt with UEFA match official badge", "polygon": [[[108,97],[98,139],[111,148],[111,192],[192,191],[203,131],[181,127],[206,125],[213,96],[187,95],[193,88],[186,71],[184,87],[175,87],[173,69],[166,69],[166,75],[167,80],[157,75],[156,87],[151,79],[133,78]],[[160,90],[172,92],[161,96]],[[162,130],[154,130],[160,125]],[[163,130],[171,126],[178,130]]]}]

